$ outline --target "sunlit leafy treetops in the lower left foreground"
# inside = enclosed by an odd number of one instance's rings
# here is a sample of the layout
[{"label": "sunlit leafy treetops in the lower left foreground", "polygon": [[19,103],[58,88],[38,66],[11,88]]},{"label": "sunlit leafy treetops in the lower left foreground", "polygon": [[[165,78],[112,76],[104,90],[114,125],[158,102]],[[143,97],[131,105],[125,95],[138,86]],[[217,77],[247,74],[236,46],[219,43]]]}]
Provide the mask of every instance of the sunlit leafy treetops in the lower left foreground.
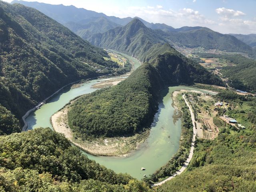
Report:
[{"label": "sunlit leafy treetops in the lower left foreground", "polygon": [[1,191],[150,191],[143,182],[89,160],[50,128],[0,137]]}]

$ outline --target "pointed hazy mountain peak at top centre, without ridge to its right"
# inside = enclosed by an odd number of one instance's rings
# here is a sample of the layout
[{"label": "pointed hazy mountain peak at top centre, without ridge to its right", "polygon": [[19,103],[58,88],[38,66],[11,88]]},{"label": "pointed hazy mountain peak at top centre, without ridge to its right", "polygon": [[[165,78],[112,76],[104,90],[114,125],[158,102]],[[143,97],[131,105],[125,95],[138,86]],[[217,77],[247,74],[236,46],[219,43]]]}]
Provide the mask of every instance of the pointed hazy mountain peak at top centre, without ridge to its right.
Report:
[{"label": "pointed hazy mountain peak at top centre, without ridge to its right", "polygon": [[147,28],[138,18],[133,19],[126,26],[110,29],[102,34],[93,35],[89,41],[100,47],[125,52],[139,59],[156,43],[164,43],[164,40],[154,30]]}]

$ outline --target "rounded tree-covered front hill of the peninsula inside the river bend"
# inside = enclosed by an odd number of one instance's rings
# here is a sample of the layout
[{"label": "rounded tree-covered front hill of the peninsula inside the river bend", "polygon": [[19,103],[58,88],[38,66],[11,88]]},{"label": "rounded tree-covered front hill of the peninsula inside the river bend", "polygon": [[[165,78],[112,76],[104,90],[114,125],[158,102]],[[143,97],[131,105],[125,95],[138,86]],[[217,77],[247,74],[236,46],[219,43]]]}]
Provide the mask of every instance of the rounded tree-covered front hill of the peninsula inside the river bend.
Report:
[{"label": "rounded tree-covered front hill of the peninsula inside the river bend", "polygon": [[163,87],[156,69],[143,64],[118,85],[79,98],[68,122],[80,137],[134,134],[150,126]]}]

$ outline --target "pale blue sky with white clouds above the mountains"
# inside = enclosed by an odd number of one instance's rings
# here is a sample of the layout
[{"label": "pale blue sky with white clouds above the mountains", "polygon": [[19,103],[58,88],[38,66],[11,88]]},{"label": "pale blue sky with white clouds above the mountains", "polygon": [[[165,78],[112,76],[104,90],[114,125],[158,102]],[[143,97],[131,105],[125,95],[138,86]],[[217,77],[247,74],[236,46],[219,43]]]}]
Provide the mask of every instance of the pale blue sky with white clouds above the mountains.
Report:
[{"label": "pale blue sky with white clouds above the mountains", "polygon": [[[4,0],[11,2],[12,0]],[[26,0],[74,5],[108,16],[138,16],[174,28],[204,26],[228,34],[256,33],[256,0]]]}]

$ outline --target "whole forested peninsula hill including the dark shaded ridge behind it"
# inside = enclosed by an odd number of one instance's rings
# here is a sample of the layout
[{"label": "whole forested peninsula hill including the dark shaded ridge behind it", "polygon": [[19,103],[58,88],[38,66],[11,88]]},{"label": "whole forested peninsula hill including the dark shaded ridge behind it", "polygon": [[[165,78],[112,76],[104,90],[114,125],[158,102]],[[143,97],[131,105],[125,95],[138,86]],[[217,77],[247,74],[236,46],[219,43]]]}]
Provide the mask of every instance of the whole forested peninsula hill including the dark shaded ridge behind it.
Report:
[{"label": "whole forested peninsula hill including the dark shaded ridge behind it", "polygon": [[171,84],[222,84],[202,66],[186,59],[171,46],[152,64],[144,63],[118,85],[82,96],[71,106],[68,122],[76,137],[124,136],[150,126],[158,96]]}]

